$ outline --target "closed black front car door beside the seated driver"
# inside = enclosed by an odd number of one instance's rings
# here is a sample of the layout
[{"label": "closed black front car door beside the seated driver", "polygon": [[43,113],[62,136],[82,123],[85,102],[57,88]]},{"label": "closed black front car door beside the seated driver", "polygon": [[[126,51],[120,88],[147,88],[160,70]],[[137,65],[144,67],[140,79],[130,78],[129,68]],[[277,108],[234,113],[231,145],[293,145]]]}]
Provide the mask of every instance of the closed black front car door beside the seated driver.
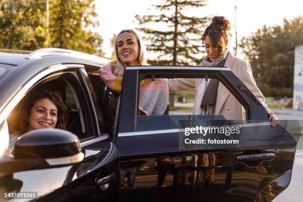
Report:
[{"label": "closed black front car door beside the seated driver", "polygon": [[35,87],[62,92],[73,119],[67,130],[78,135],[85,158],[68,166],[20,170],[11,173],[3,183],[11,184],[11,189],[20,192],[37,192],[37,201],[117,201],[119,154],[108,134],[102,134],[101,111],[84,65],[46,68],[27,81],[30,85],[26,84],[19,92],[34,90],[31,88],[33,81],[36,81]]}]

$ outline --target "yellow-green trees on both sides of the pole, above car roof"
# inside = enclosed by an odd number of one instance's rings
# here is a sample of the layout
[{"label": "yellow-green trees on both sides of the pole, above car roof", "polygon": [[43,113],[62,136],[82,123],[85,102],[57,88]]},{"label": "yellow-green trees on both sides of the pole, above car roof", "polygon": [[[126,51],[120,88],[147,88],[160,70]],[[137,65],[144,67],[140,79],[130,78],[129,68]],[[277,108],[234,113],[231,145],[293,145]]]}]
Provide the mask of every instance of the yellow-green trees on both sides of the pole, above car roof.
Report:
[{"label": "yellow-green trees on both sides of the pole, above car roof", "polygon": [[0,0],[0,48],[53,47],[101,55],[101,36],[92,32],[94,0],[50,0],[47,38],[45,0]]}]

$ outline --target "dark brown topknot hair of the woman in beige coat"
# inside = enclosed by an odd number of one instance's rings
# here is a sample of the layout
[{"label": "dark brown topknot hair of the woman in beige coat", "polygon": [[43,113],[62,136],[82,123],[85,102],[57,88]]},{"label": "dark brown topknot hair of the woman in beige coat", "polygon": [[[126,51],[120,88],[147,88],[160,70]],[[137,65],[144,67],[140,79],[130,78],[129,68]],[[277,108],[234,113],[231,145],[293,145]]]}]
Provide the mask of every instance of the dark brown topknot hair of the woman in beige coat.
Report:
[{"label": "dark brown topknot hair of the woman in beige coat", "polygon": [[225,50],[225,40],[228,39],[230,22],[223,16],[215,16],[212,18],[212,22],[206,27],[202,35],[202,43],[204,43],[205,37],[209,36],[213,46],[219,50],[219,54],[222,55]]}]

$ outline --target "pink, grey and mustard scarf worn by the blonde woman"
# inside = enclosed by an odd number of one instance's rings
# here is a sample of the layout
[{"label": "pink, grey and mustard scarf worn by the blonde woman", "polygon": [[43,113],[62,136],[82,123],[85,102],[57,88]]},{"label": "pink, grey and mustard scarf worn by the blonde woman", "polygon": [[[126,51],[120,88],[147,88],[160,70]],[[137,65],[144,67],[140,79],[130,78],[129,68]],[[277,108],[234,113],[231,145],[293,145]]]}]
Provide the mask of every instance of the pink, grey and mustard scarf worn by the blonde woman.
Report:
[{"label": "pink, grey and mustard scarf worn by the blonde woman", "polygon": [[[122,76],[113,74],[113,64],[108,63],[101,67],[99,76],[104,84],[117,93],[121,93]],[[163,115],[168,102],[168,85],[166,79],[143,79],[140,83],[139,106],[149,115]]]}]

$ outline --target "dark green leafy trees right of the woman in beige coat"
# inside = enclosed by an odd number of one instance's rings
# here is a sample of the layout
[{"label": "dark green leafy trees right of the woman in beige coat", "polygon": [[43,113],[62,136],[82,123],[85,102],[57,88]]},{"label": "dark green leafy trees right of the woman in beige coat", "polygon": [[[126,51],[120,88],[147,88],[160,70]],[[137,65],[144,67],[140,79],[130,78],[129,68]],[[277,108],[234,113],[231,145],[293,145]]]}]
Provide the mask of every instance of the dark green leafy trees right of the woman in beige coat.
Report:
[{"label": "dark green leafy trees right of the woman in beige coat", "polygon": [[240,46],[252,65],[254,77],[258,78],[257,83],[291,89],[294,49],[300,44],[303,44],[303,16],[284,19],[283,26],[264,25],[262,29],[244,37]]}]

